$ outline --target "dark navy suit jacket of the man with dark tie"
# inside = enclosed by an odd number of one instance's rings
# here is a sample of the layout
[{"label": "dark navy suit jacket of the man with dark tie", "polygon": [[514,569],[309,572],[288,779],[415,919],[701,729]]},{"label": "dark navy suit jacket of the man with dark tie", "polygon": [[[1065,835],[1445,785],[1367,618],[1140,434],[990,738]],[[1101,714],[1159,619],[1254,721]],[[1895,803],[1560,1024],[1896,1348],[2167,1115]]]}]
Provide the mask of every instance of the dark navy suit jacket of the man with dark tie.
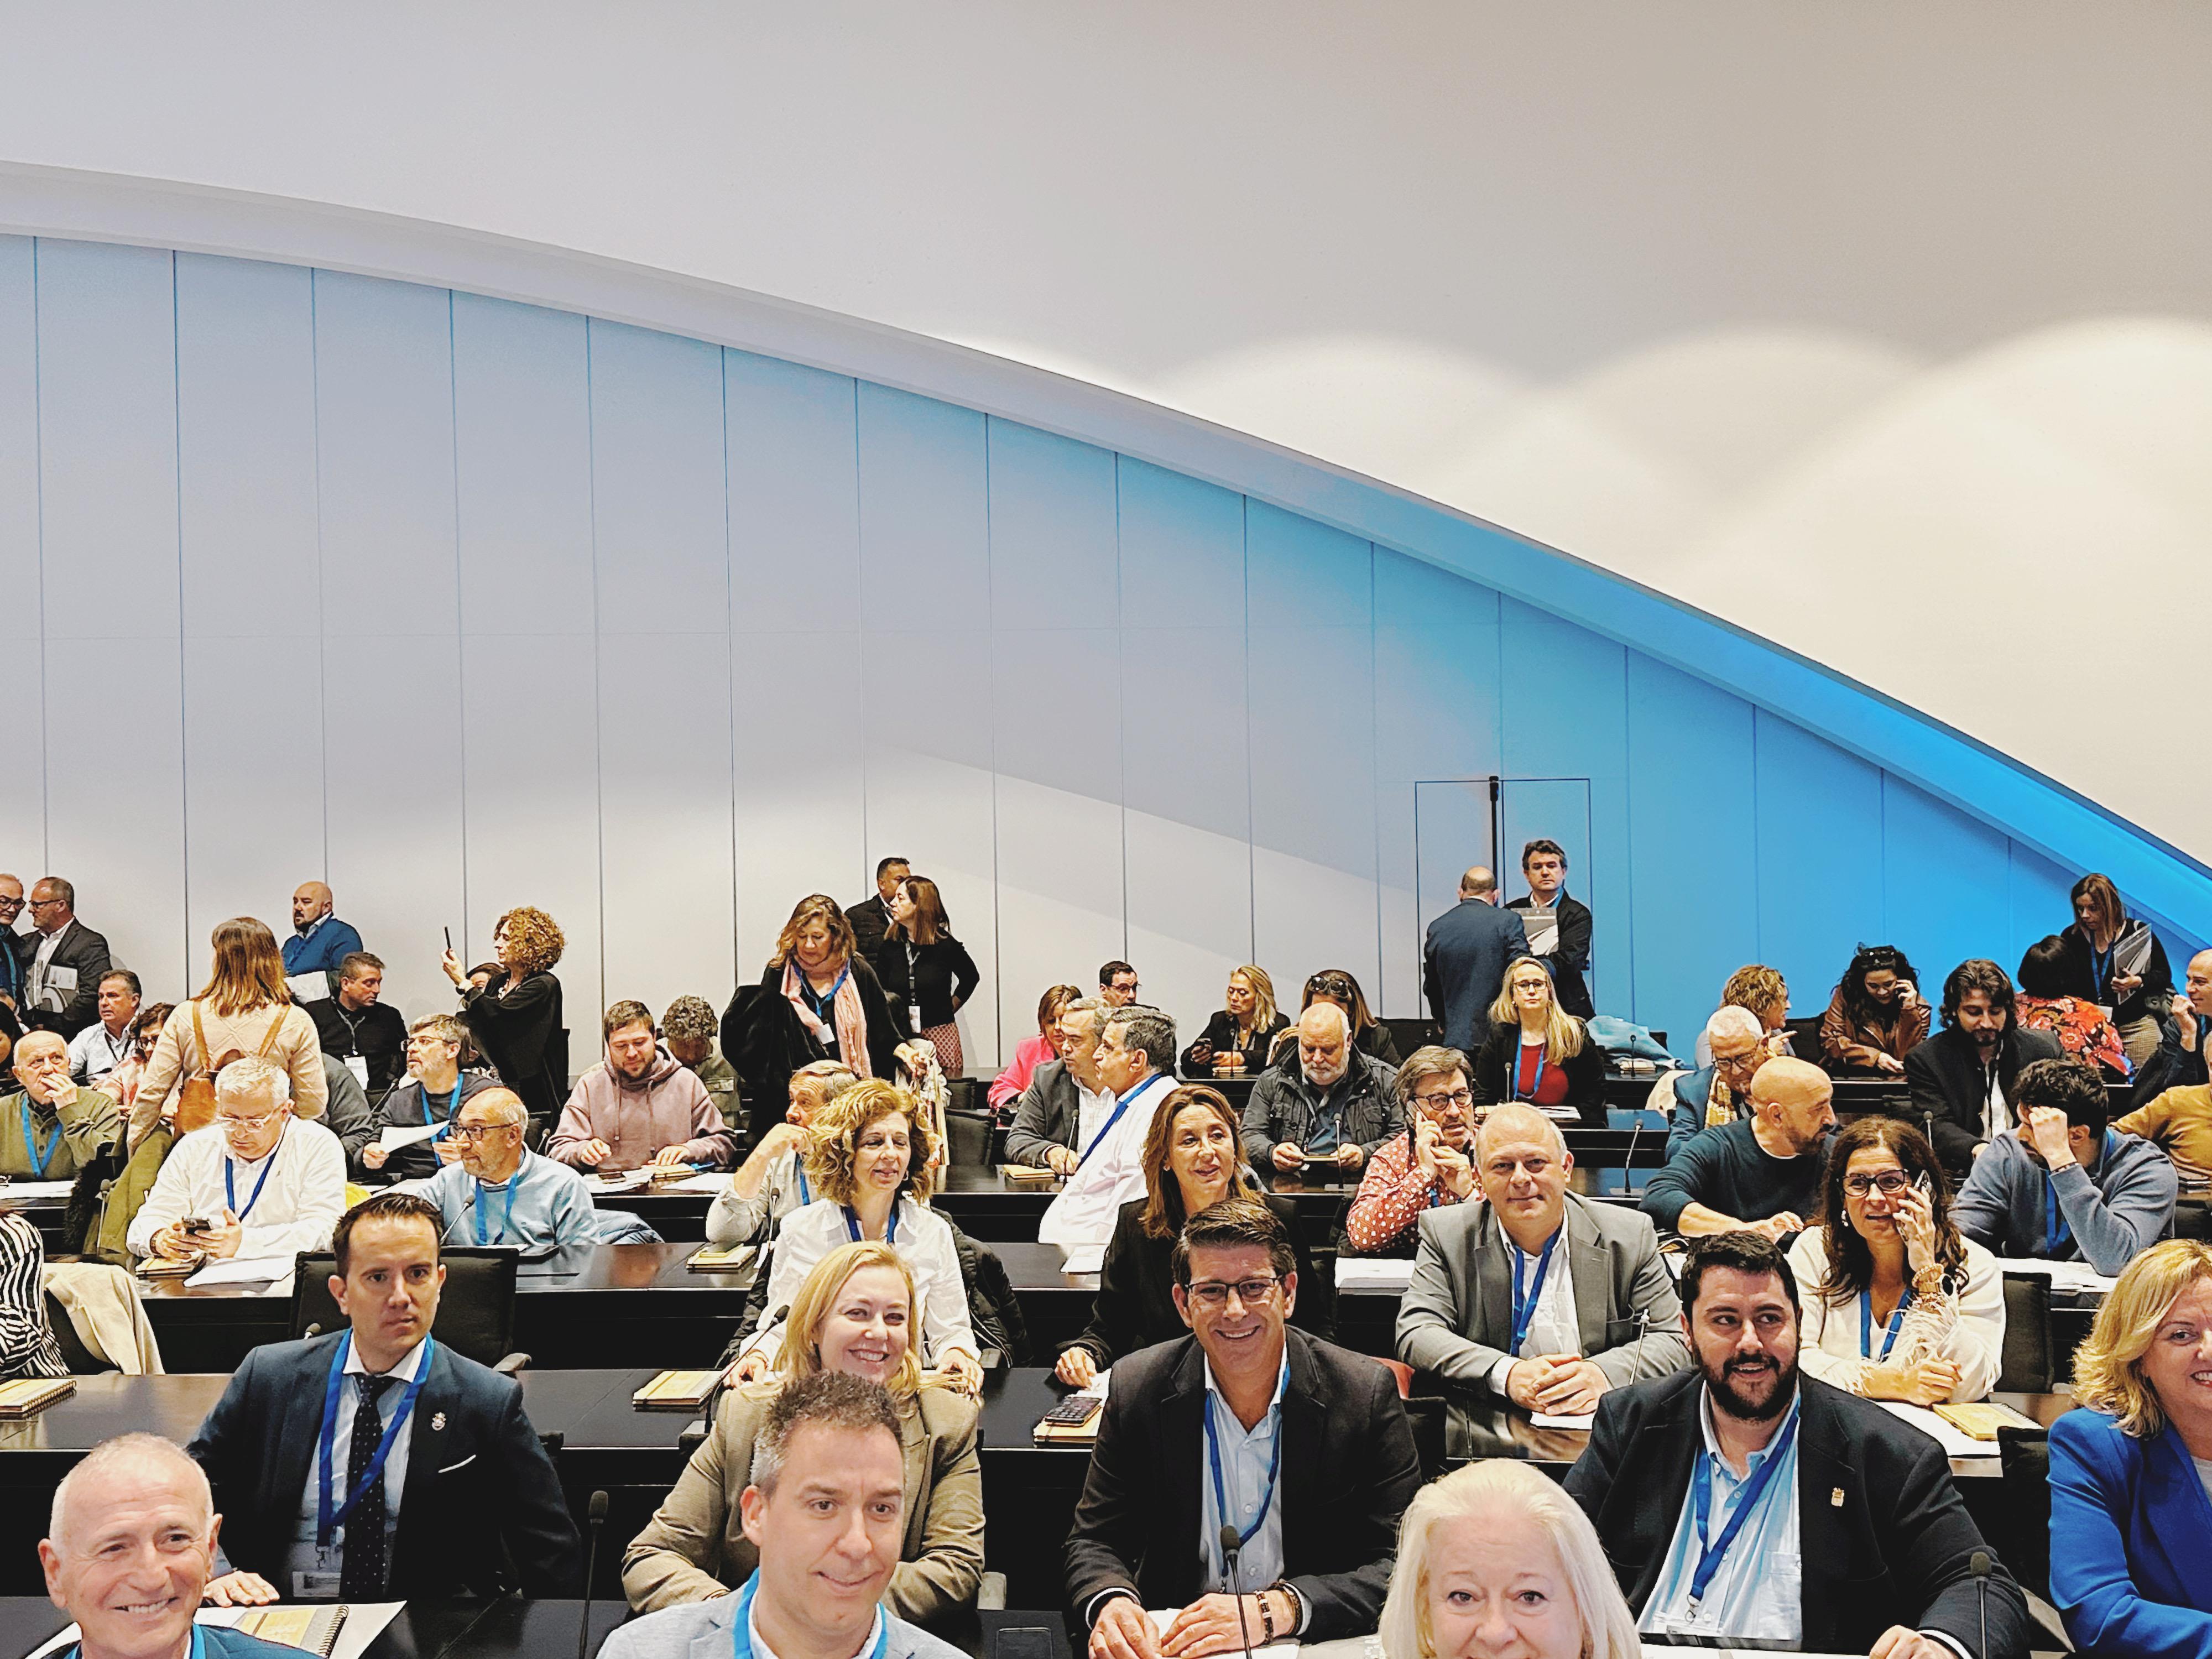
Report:
[{"label": "dark navy suit jacket of the man with dark tie", "polygon": [[[336,1347],[338,1336],[314,1336],[252,1349],[186,1447],[215,1486],[230,1564],[285,1595]],[[345,1447],[334,1464],[343,1480]],[[582,1571],[575,1520],[522,1389],[440,1343],[414,1409],[389,1597],[571,1595]]]}]

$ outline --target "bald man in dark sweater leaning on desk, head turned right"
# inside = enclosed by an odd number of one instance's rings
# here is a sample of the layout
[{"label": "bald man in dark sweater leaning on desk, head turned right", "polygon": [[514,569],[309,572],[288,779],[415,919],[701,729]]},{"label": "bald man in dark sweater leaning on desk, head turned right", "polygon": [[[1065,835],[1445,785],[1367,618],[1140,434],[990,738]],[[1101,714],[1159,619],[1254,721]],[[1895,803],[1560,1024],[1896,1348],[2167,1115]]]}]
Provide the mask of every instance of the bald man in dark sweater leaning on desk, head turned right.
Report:
[{"label": "bald man in dark sweater leaning on desk, head turned right", "polygon": [[1803,1232],[1820,1208],[1832,1095],[1818,1066],[1770,1060],[1752,1077],[1752,1115],[1701,1130],[1652,1177],[1639,1208],[1683,1237],[1756,1232],[1783,1243]]}]

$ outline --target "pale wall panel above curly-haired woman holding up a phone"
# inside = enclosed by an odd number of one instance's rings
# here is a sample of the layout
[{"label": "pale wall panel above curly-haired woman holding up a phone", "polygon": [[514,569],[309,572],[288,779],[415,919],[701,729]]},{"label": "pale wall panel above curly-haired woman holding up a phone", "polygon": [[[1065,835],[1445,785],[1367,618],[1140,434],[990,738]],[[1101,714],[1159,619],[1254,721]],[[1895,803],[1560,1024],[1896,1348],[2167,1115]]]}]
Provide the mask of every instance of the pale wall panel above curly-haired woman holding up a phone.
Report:
[{"label": "pale wall panel above curly-haired woman holding up a phone", "polygon": [[[535,905],[568,1024],[599,1006],[599,721],[584,319],[453,296],[471,936]],[[588,1055],[588,1044],[584,1051]]]}]

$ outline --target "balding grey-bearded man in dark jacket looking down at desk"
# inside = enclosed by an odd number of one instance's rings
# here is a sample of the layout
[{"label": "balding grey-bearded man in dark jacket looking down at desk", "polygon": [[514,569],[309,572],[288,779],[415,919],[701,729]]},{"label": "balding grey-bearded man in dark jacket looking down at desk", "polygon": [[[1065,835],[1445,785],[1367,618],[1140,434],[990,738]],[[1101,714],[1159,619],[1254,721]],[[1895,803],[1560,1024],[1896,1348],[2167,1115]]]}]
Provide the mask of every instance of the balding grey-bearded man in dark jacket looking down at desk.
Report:
[{"label": "balding grey-bearded man in dark jacket looking down at desk", "polygon": [[1298,1053],[1261,1073],[1245,1102],[1245,1157],[1263,1170],[1360,1170],[1405,1133],[1398,1068],[1358,1051],[1334,1002],[1301,1013],[1296,1033]]}]

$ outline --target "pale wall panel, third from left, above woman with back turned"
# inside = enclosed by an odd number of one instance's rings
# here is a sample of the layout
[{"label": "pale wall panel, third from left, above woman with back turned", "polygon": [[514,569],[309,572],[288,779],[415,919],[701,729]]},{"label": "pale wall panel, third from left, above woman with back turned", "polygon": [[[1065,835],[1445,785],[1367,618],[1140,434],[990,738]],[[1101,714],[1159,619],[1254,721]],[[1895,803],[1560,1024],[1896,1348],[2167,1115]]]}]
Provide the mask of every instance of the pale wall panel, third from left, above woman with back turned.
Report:
[{"label": "pale wall panel, third from left, above woman with back turned", "polygon": [[294,265],[177,254],[195,964],[228,916],[259,916],[283,940],[292,889],[327,869],[312,285]]}]

